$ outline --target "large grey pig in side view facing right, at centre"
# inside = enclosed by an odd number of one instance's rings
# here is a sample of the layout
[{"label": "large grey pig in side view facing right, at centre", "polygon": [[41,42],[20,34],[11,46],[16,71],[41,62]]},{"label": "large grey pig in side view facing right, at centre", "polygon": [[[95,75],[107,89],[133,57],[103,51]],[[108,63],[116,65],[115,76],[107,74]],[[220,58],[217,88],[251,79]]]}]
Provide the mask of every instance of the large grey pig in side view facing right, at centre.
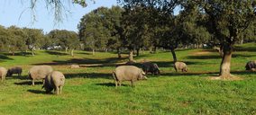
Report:
[{"label": "large grey pig in side view facing right, at centre", "polygon": [[122,81],[131,81],[133,83],[137,80],[147,79],[145,73],[141,68],[136,66],[117,66],[113,71],[115,86],[121,86]]}]

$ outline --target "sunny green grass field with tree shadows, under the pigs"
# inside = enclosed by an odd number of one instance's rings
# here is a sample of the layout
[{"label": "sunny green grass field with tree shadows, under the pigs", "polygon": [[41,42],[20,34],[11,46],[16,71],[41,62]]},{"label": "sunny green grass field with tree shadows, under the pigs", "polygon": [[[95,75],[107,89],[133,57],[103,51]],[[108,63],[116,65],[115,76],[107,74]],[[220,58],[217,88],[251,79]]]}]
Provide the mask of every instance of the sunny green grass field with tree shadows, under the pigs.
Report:
[{"label": "sunny green grass field with tree shadows, under the pigs", "polygon": [[[232,74],[240,81],[215,81],[221,58],[212,49],[178,49],[178,60],[185,61],[187,73],[176,73],[170,52],[145,52],[135,57],[160,66],[161,75],[129,82],[115,88],[111,72],[115,63],[127,61],[114,53],[76,51],[75,57],[64,52],[36,52],[32,56],[0,54],[0,66],[22,66],[23,76],[7,77],[0,84],[0,114],[256,114],[256,76],[244,71],[249,60],[256,60],[256,44],[237,46],[232,58]],[[82,65],[70,69],[70,64]],[[46,94],[41,81],[35,86],[27,77],[34,65],[50,65],[66,75],[60,95]]]}]

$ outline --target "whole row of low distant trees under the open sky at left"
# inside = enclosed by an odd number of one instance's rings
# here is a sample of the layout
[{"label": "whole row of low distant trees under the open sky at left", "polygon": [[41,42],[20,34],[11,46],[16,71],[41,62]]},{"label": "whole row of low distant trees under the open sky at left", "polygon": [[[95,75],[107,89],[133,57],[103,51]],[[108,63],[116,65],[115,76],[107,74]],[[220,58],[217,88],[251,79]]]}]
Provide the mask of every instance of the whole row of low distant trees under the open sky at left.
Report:
[{"label": "whole row of low distant trees under the open sky at left", "polygon": [[53,30],[44,34],[40,29],[0,26],[0,50],[15,55],[28,52],[35,55],[36,49],[65,49],[70,55],[74,49],[80,49],[78,34],[75,31]]}]

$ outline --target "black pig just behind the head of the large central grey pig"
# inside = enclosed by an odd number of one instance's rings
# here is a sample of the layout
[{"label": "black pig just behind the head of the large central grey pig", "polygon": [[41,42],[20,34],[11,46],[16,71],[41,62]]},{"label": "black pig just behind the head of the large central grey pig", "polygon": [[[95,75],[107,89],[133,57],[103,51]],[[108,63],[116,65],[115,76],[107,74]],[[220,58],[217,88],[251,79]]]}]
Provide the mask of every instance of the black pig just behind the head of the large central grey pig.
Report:
[{"label": "black pig just behind the head of the large central grey pig", "polygon": [[142,70],[146,73],[146,75],[148,74],[148,72],[150,72],[153,75],[160,74],[159,66],[157,64],[151,63],[151,62],[142,63]]}]

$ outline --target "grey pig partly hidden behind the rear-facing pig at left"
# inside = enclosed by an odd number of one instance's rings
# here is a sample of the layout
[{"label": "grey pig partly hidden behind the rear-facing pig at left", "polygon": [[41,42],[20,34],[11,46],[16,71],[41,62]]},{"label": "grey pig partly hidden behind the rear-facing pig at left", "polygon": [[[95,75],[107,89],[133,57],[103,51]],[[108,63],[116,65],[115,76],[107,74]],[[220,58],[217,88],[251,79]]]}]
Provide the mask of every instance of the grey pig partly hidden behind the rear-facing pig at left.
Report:
[{"label": "grey pig partly hidden behind the rear-facing pig at left", "polygon": [[32,79],[32,85],[34,85],[34,80],[44,80],[45,76],[50,72],[52,72],[51,66],[32,66],[29,70],[29,77]]}]

